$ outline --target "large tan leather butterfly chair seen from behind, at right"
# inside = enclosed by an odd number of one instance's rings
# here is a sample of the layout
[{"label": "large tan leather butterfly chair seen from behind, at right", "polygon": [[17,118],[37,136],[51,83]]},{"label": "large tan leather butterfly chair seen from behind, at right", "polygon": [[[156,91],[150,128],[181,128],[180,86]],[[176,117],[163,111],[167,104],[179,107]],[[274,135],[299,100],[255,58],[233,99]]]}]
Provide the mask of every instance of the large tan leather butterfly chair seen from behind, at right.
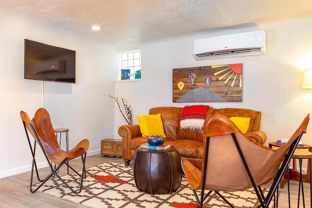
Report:
[{"label": "large tan leather butterfly chair seen from behind, at right", "polygon": [[[308,114],[290,140],[278,149],[270,149],[256,143],[240,132],[234,123],[223,115],[212,115],[204,125],[204,151],[202,171],[187,159],[181,159],[182,169],[197,200],[197,208],[215,191],[232,208],[218,191],[239,191],[254,188],[259,207],[267,208],[275,190],[292,158],[309,123]],[[269,192],[264,196],[261,185],[272,179]],[[200,190],[200,199],[196,190]],[[204,193],[209,190],[208,193]]]}]

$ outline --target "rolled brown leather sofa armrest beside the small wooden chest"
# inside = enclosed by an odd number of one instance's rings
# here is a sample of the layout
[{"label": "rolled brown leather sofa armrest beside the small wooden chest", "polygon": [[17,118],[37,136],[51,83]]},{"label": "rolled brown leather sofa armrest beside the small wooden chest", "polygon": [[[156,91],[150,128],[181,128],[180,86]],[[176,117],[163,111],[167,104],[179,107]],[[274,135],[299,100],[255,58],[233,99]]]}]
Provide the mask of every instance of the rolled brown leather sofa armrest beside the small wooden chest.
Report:
[{"label": "rolled brown leather sofa armrest beside the small wooden chest", "polygon": [[122,125],[118,129],[122,137],[122,158],[130,160],[130,140],[142,136],[139,125]]}]

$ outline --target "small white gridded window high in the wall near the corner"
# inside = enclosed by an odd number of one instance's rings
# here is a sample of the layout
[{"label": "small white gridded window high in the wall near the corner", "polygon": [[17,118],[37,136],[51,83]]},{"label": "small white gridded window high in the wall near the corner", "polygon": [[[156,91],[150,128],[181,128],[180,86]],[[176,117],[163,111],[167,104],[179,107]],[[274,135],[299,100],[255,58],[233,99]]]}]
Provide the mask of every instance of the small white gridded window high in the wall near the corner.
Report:
[{"label": "small white gridded window high in the wall near the corner", "polygon": [[122,69],[130,70],[130,79],[141,78],[141,51],[122,55]]}]

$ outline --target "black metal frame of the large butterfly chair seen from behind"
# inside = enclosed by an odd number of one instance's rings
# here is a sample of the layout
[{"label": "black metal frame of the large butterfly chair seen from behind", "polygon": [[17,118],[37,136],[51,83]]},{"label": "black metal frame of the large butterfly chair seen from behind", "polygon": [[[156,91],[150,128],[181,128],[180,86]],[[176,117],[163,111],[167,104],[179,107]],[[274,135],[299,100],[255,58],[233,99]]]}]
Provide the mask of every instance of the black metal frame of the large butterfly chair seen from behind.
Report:
[{"label": "black metal frame of the large butterfly chair seen from behind", "polygon": [[[277,174],[276,174],[276,176],[275,176],[275,178],[273,180],[272,186],[271,186],[271,188],[270,188],[270,190],[269,190],[269,192],[268,192],[266,197],[264,196],[261,187],[260,186],[256,186],[256,184],[254,182],[254,177],[253,177],[253,175],[252,175],[252,173],[251,173],[251,171],[250,171],[250,169],[248,167],[248,164],[247,164],[247,162],[245,160],[245,157],[244,157],[244,154],[243,154],[243,152],[242,152],[242,150],[241,150],[241,148],[240,148],[240,146],[238,144],[238,141],[237,141],[237,138],[236,138],[235,134],[234,133],[231,133],[231,134],[232,134],[233,141],[234,141],[234,143],[236,145],[237,151],[239,152],[239,155],[240,155],[240,157],[242,159],[242,162],[243,162],[243,164],[245,166],[245,169],[246,169],[246,171],[248,173],[250,181],[251,181],[251,183],[253,185],[254,191],[255,191],[255,193],[256,193],[256,195],[258,197],[258,200],[260,202],[260,205],[258,206],[258,208],[260,208],[260,207],[261,208],[268,208],[270,203],[271,203],[271,201],[272,201],[272,199],[273,199],[273,197],[275,199],[275,191],[276,190],[278,191],[278,185],[280,183],[280,180],[282,179],[282,177],[284,175],[284,172],[287,169],[290,160],[292,159],[292,155],[293,155],[293,153],[294,153],[294,151],[295,151],[295,149],[296,149],[296,147],[297,147],[297,145],[298,145],[298,143],[299,143],[299,141],[301,139],[301,136],[302,136],[303,132],[301,132],[300,135],[292,142],[292,145],[291,145],[289,151],[287,152],[287,154],[286,154],[286,156],[285,156],[285,158],[283,160],[283,163],[280,166],[280,168],[279,168],[279,170],[278,170],[278,172],[277,172]],[[204,167],[207,167],[208,150],[209,150],[208,149],[209,148],[209,139],[210,139],[210,137],[206,137],[206,151],[205,151],[205,158],[204,158]],[[196,198],[196,201],[197,201],[196,208],[201,208],[203,206],[203,202],[207,199],[207,197],[213,191],[215,191],[215,193],[217,195],[219,195],[229,206],[234,208],[234,206],[228,200],[226,200],[226,198],[224,196],[222,196],[217,190],[210,190],[206,195],[204,194],[204,191],[205,191],[204,184],[206,182],[206,177],[205,177],[206,176],[206,171],[207,170],[205,168],[203,170],[204,177],[203,177],[203,181],[202,181],[203,185],[202,185],[201,192],[200,192],[200,200],[199,200],[199,197],[198,197],[198,194],[197,194],[196,190],[195,189],[193,190],[195,198]],[[276,205],[276,208],[277,208],[278,207],[278,196],[276,197],[276,202],[274,202],[274,208],[275,208],[275,205]]]}]

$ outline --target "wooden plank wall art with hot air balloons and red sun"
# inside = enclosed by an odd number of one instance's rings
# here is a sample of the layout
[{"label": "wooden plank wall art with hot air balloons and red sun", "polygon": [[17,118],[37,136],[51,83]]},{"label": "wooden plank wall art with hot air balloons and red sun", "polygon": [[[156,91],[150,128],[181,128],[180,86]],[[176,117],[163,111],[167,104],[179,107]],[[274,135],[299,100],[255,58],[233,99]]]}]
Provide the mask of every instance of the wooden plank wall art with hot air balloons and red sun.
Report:
[{"label": "wooden plank wall art with hot air balloons and red sun", "polygon": [[243,64],[173,69],[172,101],[243,102]]}]

